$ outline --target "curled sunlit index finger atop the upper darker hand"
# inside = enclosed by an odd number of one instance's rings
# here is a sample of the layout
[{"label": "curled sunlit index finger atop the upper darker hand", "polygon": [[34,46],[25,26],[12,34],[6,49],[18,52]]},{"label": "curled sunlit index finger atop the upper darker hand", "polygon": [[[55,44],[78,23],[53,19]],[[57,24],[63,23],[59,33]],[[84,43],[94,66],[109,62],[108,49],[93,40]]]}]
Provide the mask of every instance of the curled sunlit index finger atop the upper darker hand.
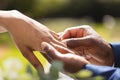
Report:
[{"label": "curled sunlit index finger atop the upper darker hand", "polygon": [[82,25],[66,29],[60,36],[61,39],[80,38],[90,35],[94,30],[89,25]]}]

